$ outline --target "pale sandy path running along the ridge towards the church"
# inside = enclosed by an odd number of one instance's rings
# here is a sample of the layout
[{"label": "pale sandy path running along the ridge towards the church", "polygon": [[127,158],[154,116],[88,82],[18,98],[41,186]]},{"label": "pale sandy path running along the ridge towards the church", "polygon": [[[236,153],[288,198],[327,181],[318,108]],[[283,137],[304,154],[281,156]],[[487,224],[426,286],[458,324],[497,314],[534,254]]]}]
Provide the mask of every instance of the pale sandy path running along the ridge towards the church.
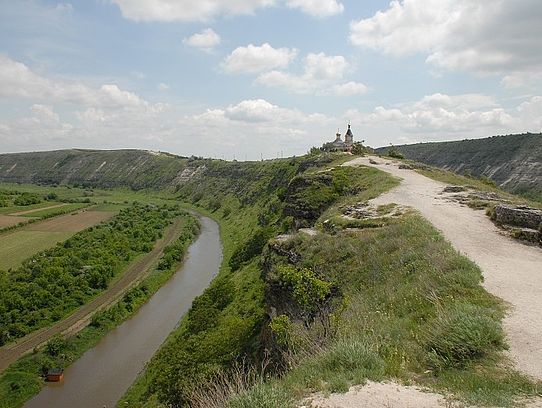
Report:
[{"label": "pale sandy path running along the ridge towards the church", "polygon": [[[542,249],[502,235],[483,211],[446,200],[446,186],[413,170],[373,157],[344,165],[379,168],[403,179],[400,186],[377,197],[374,204],[396,203],[420,211],[452,245],[482,269],[483,286],[511,305],[504,319],[510,357],[517,368],[542,379]],[[387,164],[390,163],[390,164]]]}]

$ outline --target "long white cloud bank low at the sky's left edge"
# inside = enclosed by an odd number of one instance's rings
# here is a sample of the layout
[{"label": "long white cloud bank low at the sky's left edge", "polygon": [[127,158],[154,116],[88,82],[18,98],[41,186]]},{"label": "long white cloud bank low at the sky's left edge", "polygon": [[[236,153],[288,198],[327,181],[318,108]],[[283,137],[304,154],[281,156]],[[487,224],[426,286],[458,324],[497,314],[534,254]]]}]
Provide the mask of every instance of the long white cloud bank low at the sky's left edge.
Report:
[{"label": "long white cloud bank low at the sky's left edge", "polygon": [[77,81],[46,78],[4,55],[0,55],[0,97],[106,107],[148,105],[135,93],[115,84],[104,84],[96,89]]}]

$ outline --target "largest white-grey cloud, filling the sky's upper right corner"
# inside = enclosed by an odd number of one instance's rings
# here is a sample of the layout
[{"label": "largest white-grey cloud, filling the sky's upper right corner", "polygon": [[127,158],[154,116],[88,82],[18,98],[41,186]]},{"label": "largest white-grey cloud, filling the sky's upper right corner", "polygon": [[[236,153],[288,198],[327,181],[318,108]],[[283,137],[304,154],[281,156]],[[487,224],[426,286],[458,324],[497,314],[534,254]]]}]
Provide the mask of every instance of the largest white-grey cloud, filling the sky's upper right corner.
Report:
[{"label": "largest white-grey cloud, filling the sky's upper right corner", "polygon": [[436,67],[502,75],[538,72],[540,38],[538,0],[394,0],[350,29],[350,41],[361,47],[424,53]]}]

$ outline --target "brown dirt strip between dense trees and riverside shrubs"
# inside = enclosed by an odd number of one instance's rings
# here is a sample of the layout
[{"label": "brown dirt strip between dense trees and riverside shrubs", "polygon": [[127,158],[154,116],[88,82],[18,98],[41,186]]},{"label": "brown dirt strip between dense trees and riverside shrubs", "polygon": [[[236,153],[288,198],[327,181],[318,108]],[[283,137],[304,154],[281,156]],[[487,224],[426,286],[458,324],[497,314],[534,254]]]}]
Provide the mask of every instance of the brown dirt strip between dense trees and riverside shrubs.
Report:
[{"label": "brown dirt strip between dense trees and riverside shrubs", "polygon": [[177,220],[167,228],[164,236],[156,242],[153,250],[132,262],[119,279],[105,292],[98,295],[89,303],[77,309],[64,320],[53,326],[46,327],[28,334],[17,342],[0,347],[0,373],[21,356],[47,342],[57,334],[74,334],[90,322],[92,315],[117,301],[128,289],[140,282],[157,262],[163,249],[172,243],[182,228],[182,221]]}]

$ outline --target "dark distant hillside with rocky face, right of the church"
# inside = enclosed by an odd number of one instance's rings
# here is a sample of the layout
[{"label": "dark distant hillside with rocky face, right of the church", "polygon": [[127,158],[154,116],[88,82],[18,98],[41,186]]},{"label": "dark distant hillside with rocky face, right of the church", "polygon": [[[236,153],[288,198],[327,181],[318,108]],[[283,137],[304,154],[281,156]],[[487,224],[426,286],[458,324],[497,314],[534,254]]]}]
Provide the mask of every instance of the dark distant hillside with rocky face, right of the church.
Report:
[{"label": "dark distant hillside with rocky face, right of the church", "polygon": [[[542,192],[542,134],[395,147],[408,159],[460,174],[487,176],[510,192]],[[377,153],[387,150],[376,149]]]}]

